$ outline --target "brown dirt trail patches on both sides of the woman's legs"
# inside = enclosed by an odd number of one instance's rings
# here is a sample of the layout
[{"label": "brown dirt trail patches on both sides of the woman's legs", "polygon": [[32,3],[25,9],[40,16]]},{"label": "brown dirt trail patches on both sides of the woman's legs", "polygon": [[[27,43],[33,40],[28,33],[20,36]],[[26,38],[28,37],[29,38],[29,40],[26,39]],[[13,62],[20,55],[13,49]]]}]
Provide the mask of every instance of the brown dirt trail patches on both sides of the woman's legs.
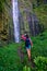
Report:
[{"label": "brown dirt trail patches on both sides of the woman's legs", "polygon": [[[22,51],[21,47],[19,47],[17,54],[20,56],[21,62],[23,62],[24,61],[23,59],[24,59],[25,54]],[[27,63],[30,63],[32,68],[35,67],[35,63],[34,63],[33,59],[31,61],[27,60]]]}]

